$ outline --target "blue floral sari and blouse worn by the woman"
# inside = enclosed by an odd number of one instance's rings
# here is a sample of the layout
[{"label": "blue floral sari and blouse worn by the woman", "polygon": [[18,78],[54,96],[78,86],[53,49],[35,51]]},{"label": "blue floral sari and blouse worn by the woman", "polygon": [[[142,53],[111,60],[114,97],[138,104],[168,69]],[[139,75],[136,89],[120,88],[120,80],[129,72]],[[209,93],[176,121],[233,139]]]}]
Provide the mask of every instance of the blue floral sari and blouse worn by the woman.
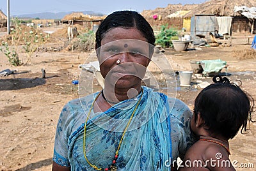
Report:
[{"label": "blue floral sari and blouse worn by the woman", "polygon": [[[172,158],[170,109],[167,96],[143,87],[144,93],[122,101],[106,112],[92,114],[86,123],[86,157],[98,168],[108,168],[134,107],[141,97],[124,135],[118,170],[170,170]],[[70,101],[62,110],[56,130],[53,161],[71,170],[94,170],[83,153],[84,121],[98,93]],[[80,103],[81,102],[81,103]],[[79,105],[80,103],[80,105]]]}]

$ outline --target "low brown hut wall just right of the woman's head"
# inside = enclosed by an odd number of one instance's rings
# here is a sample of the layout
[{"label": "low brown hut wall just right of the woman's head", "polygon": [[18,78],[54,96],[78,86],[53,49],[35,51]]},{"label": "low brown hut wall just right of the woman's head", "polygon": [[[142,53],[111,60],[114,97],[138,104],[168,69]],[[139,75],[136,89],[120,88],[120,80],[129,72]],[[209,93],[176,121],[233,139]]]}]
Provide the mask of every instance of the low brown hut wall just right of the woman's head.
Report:
[{"label": "low brown hut wall just right of the woman's head", "polygon": [[154,19],[147,19],[150,26],[153,27],[155,30],[160,30],[161,26],[165,26],[166,24],[168,27],[172,27],[175,29],[182,29],[183,27],[183,19],[182,17],[173,17],[161,20],[154,20]]}]

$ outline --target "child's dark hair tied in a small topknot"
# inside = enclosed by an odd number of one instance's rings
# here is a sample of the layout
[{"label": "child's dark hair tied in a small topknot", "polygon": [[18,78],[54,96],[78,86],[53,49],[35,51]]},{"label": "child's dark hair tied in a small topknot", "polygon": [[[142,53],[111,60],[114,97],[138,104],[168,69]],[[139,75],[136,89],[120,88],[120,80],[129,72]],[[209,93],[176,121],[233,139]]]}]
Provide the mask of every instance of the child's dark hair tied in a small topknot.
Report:
[{"label": "child's dark hair tied in a small topknot", "polygon": [[254,107],[252,96],[226,77],[215,76],[212,80],[215,84],[205,87],[196,97],[195,121],[200,113],[207,130],[226,138],[234,138],[241,126],[241,133],[249,130]]}]

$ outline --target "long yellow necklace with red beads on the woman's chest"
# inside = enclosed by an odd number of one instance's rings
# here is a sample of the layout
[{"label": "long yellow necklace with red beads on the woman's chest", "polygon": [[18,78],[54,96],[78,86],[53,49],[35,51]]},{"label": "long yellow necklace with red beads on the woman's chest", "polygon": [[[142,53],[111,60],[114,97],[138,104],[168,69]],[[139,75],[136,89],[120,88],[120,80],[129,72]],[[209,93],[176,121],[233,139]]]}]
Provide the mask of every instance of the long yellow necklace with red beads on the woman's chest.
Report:
[{"label": "long yellow necklace with red beads on the woman's chest", "polygon": [[[101,93],[101,92],[100,92],[100,93]],[[90,161],[89,161],[88,158],[86,157],[86,147],[85,147],[85,146],[86,146],[86,123],[87,123],[87,121],[88,121],[88,119],[89,119],[89,115],[90,115],[90,113],[91,113],[91,111],[92,111],[92,108],[93,108],[93,106],[94,106],[94,103],[95,103],[95,101],[97,100],[97,98],[99,97],[100,93],[96,96],[95,100],[93,101],[92,106],[91,106],[91,108],[90,108],[90,110],[89,110],[89,113],[88,113],[88,115],[87,115],[86,122],[84,123],[84,142],[83,142],[84,158],[85,158],[85,160],[87,161],[87,163],[88,163],[92,168],[94,168],[95,170],[117,170],[117,167],[116,167],[115,164],[116,164],[116,160],[117,160],[117,158],[118,158],[118,151],[119,151],[120,146],[121,146],[121,144],[122,144],[122,140],[123,140],[123,138],[124,138],[125,132],[127,131],[127,128],[128,128],[128,126],[129,126],[129,124],[131,123],[132,117],[133,117],[134,113],[136,112],[136,109],[138,108],[138,105],[139,105],[139,103],[140,103],[141,97],[142,97],[142,95],[143,95],[143,88],[142,88],[142,91],[141,91],[140,99],[138,100],[138,103],[136,104],[136,107],[134,108],[134,110],[133,110],[133,112],[132,112],[132,115],[131,115],[131,117],[130,117],[130,119],[129,119],[129,122],[127,123],[127,125],[126,125],[126,127],[125,127],[125,129],[124,129],[124,133],[123,133],[122,138],[121,138],[121,140],[120,140],[120,142],[119,142],[118,148],[117,148],[117,150],[116,150],[116,152],[115,152],[115,158],[114,158],[114,160],[112,161],[112,164],[111,164],[111,166],[110,166],[109,168],[98,168],[97,166],[92,165],[92,163],[90,163]]]}]

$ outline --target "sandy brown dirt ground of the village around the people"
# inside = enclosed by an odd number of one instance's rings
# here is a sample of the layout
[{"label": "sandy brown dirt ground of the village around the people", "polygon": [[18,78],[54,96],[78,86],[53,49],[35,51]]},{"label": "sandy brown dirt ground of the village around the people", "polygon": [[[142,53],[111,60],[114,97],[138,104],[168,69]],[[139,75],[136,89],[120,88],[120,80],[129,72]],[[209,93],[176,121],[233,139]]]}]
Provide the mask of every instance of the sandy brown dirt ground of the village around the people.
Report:
[{"label": "sandy brown dirt ground of the village around the people", "polygon": [[[232,41],[234,44],[231,47],[189,48],[186,52],[175,52],[173,48],[168,48],[164,56],[172,64],[173,71],[191,70],[191,59],[227,61],[228,77],[241,80],[241,87],[256,100],[256,58],[237,59],[250,45],[239,45],[241,41]],[[246,43],[246,40],[243,41]],[[58,48],[62,44],[49,43],[47,46]],[[0,71],[16,70],[14,74],[0,78],[0,170],[51,170],[58,117],[65,103],[79,97],[77,85],[71,82],[79,78],[81,70],[78,66],[84,64],[89,55],[65,50],[37,52],[26,66],[13,67],[0,53]],[[42,68],[46,71],[45,78],[42,78]],[[224,71],[221,73],[225,74]],[[164,82],[157,72],[154,76],[159,78],[159,82]],[[178,86],[176,97],[193,108],[193,101],[201,90],[200,87],[196,89],[196,85],[198,82],[211,83],[211,79],[194,73],[191,80],[193,86]],[[99,83],[93,79],[93,91],[99,89]],[[159,91],[165,90],[166,87],[160,85]],[[255,137],[256,123],[252,123],[247,134],[238,133],[230,140],[230,159],[237,161],[237,170],[255,170]],[[244,167],[253,165],[254,168],[241,168],[241,164]]]}]

